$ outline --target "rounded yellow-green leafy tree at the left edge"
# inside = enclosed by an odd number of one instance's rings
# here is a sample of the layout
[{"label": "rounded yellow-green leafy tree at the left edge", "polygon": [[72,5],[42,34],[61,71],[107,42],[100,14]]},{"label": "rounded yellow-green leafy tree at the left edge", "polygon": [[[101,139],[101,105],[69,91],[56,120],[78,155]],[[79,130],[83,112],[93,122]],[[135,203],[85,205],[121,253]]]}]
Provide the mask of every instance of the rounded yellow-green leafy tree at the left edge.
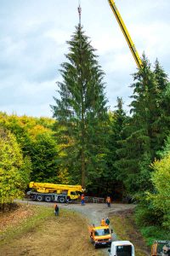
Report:
[{"label": "rounded yellow-green leafy tree at the left edge", "polygon": [[[27,161],[28,163],[28,161]],[[0,130],[0,203],[14,201],[25,189],[26,164],[19,144],[9,131]]]}]

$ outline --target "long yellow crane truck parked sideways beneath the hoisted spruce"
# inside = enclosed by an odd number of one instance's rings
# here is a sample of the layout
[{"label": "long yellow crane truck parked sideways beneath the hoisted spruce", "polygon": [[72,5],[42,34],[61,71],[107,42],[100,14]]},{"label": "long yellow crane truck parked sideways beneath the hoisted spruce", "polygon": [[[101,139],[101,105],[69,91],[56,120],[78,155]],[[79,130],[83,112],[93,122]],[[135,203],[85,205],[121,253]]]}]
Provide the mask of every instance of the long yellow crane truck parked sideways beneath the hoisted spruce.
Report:
[{"label": "long yellow crane truck parked sideways beneath the hoisted spruce", "polygon": [[54,183],[34,183],[29,184],[30,191],[27,195],[36,201],[76,201],[84,191],[81,185],[66,185]]}]

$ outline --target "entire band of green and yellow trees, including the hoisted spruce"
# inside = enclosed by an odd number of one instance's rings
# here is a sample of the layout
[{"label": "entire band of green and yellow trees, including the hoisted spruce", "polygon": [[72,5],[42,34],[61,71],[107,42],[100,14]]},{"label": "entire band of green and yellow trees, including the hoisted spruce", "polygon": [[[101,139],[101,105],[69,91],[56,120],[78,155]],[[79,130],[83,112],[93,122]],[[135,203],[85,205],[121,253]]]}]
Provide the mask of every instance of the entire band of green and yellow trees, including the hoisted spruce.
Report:
[{"label": "entire band of green and yellow trees, including the hoisted spruce", "polygon": [[[147,236],[170,231],[170,84],[158,60],[143,55],[129,106],[110,110],[105,73],[76,27],[59,70],[54,118],[0,113],[0,206],[22,197],[30,181],[81,183],[88,195],[138,204]],[[127,86],[127,84],[125,84]],[[156,230],[161,228],[161,235]],[[157,232],[157,233],[156,233]],[[157,235],[156,235],[157,234]]]}]

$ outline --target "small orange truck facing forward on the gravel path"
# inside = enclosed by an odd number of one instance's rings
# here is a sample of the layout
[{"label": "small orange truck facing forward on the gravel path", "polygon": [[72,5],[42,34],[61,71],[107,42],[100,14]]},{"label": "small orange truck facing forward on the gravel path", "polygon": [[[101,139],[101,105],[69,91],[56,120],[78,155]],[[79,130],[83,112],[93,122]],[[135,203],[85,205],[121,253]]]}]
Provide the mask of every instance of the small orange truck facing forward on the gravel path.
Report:
[{"label": "small orange truck facing forward on the gravel path", "polygon": [[112,230],[109,229],[109,226],[98,226],[88,227],[90,233],[90,240],[94,244],[94,248],[102,246],[111,246],[111,233]]}]

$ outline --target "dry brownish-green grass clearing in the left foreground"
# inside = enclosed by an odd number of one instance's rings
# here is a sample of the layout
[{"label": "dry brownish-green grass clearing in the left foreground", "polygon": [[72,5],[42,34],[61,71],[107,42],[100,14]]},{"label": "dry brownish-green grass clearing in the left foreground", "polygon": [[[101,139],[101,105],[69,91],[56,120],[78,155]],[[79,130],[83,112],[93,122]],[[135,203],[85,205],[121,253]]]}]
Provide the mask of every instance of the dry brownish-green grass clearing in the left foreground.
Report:
[{"label": "dry brownish-green grass clearing in the left foreground", "polygon": [[[9,214],[8,218],[14,213],[13,221],[6,222],[3,229],[0,255],[104,255],[102,249],[95,250],[90,243],[87,219],[80,213],[60,209],[59,216],[56,217],[53,207],[29,205],[25,210],[26,206]],[[22,216],[19,222],[14,218],[16,214]],[[2,218],[4,216],[0,220]]]}]

